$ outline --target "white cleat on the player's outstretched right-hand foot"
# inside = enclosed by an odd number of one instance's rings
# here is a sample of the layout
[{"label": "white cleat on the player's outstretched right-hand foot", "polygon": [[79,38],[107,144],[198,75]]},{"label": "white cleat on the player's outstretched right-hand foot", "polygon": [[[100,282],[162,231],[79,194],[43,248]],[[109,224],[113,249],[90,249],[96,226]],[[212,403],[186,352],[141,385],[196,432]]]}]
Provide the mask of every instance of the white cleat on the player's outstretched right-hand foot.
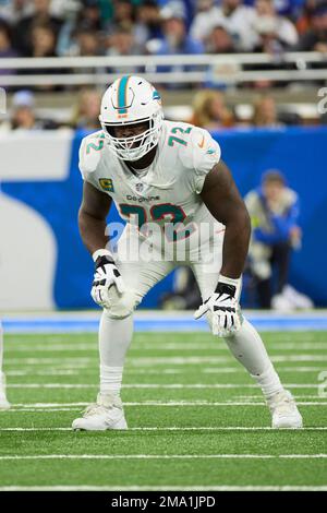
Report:
[{"label": "white cleat on the player's outstretched right-hand foot", "polygon": [[288,390],[272,395],[267,399],[267,403],[272,416],[272,428],[302,428],[302,416]]}]

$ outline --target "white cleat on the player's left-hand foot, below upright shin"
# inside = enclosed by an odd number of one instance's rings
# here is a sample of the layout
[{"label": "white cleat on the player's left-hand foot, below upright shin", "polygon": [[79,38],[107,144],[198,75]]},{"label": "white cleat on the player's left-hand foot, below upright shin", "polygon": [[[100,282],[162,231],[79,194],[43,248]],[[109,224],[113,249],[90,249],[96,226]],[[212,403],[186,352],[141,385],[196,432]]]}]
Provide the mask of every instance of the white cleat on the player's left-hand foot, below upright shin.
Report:
[{"label": "white cleat on the player's left-hand foot, below upright shin", "polygon": [[128,429],[121,398],[112,394],[98,394],[97,402],[87,406],[83,417],[73,421],[72,428],[85,431]]}]

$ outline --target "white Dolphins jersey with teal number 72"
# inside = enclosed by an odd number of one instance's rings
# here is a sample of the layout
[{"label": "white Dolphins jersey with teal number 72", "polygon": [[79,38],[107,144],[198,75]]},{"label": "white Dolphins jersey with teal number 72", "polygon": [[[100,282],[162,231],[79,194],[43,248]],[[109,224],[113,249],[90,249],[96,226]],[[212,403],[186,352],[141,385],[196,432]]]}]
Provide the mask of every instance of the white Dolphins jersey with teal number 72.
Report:
[{"label": "white Dolphins jersey with teal number 72", "polygon": [[180,223],[171,237],[171,242],[177,242],[192,236],[202,224],[215,231],[223,228],[199,196],[206,175],[220,154],[219,144],[206,130],[164,121],[155,159],[145,172],[134,175],[106,147],[102,131],[83,139],[80,169],[84,180],[112,198],[128,223],[132,218],[135,222],[135,216],[138,227]]}]

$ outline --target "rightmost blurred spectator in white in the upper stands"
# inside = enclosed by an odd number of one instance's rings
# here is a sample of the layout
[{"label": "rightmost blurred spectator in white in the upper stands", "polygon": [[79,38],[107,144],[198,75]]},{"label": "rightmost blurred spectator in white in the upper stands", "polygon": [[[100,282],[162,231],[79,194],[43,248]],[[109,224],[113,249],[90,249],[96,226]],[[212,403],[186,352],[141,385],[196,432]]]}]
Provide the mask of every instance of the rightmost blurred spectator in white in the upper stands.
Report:
[{"label": "rightmost blurred spectator in white in the upper stands", "polygon": [[298,43],[295,26],[287,17],[277,14],[274,0],[256,0],[254,29],[258,43],[256,51],[278,53]]}]

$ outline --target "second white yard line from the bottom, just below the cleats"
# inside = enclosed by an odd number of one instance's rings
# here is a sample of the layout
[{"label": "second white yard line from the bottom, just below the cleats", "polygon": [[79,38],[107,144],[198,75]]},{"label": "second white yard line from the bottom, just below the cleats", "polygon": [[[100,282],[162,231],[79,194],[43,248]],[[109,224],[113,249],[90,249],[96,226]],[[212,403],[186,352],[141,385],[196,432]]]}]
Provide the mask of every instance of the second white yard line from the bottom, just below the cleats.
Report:
[{"label": "second white yard line from the bottom, just below the cleats", "polygon": [[5,455],[8,460],[324,460],[327,454],[33,454]]}]

